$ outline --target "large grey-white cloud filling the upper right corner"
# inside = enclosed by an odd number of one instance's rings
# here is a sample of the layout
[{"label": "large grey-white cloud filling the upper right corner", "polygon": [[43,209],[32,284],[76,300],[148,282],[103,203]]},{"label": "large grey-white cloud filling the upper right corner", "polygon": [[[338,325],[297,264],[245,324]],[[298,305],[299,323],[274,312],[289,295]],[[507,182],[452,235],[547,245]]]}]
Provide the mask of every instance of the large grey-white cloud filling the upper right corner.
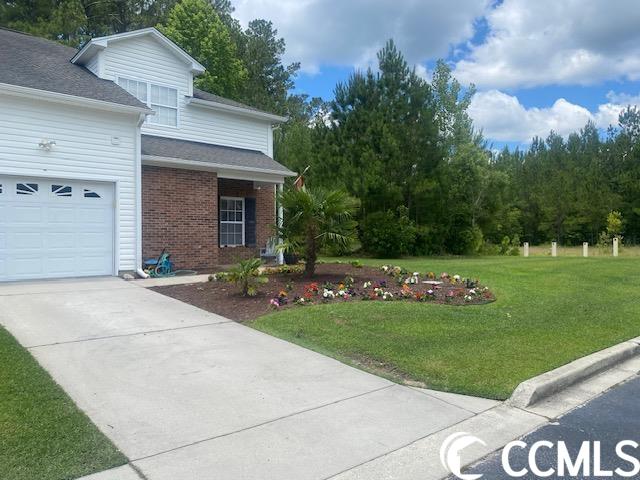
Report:
[{"label": "large grey-white cloud filling the upper right corner", "polygon": [[640,79],[637,0],[505,0],[486,20],[486,40],[456,65],[463,83],[518,88]]}]

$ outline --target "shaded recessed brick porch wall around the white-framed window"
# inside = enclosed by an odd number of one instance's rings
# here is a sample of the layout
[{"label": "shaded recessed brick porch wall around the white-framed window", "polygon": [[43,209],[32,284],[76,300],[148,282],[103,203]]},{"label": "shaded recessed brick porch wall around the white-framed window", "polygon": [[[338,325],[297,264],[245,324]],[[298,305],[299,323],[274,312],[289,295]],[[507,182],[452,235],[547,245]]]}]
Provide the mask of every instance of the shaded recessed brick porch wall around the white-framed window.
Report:
[{"label": "shaded recessed brick porch wall around the white-framed window", "polygon": [[218,262],[221,265],[237,263],[238,260],[260,255],[260,248],[274,235],[276,223],[275,186],[262,186],[259,190],[253,182],[243,180],[218,179],[218,193],[221,197],[254,197],[256,199],[256,247],[221,247]]}]

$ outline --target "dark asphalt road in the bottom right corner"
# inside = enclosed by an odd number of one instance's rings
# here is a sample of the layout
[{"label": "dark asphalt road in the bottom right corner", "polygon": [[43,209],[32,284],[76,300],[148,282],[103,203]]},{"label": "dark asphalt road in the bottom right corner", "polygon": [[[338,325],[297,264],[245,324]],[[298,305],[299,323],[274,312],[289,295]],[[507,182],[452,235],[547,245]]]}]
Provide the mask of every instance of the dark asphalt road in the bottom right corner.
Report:
[{"label": "dark asphalt road in the bottom right corner", "polygon": [[[537,441],[547,440],[554,445],[556,442],[564,441],[567,450],[571,453],[571,458],[575,459],[582,442],[590,441],[601,442],[601,470],[615,471],[617,467],[624,470],[631,470],[631,465],[627,462],[621,462],[615,455],[615,447],[622,440],[633,440],[640,443],[640,377],[618,385],[609,390],[598,398],[590,401],[584,406],[569,412],[560,417],[556,422],[551,422],[535,432],[530,433],[523,438],[523,441],[531,446]],[[593,443],[591,444],[593,445]],[[628,454],[640,459],[640,449],[628,448],[625,450]],[[510,455],[510,464],[515,471],[523,468],[529,469],[528,462],[529,449],[514,449]],[[594,479],[593,470],[591,476],[587,476],[584,472],[577,476],[559,476],[557,473],[557,450],[542,448],[536,456],[537,465],[541,471],[555,469],[556,473],[544,478],[571,478],[571,479]],[[591,464],[592,469],[593,463]],[[490,455],[473,467],[469,468],[465,473],[483,474],[483,480],[502,480],[512,479],[514,477],[507,475],[502,468],[501,451]],[[531,473],[527,474],[526,479],[543,478]],[[624,478],[619,475],[600,476],[600,478]],[[629,477],[626,477],[629,478]],[[640,479],[640,473],[633,476],[634,479]]]}]

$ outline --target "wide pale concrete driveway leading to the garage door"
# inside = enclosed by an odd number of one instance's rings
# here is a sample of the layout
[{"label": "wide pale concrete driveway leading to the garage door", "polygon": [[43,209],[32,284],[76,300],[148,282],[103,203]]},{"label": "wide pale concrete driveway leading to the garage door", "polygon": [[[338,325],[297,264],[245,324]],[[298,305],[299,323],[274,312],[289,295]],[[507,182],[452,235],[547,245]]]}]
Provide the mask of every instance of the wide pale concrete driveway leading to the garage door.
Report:
[{"label": "wide pale concrete driveway leading to the garage door", "polygon": [[0,323],[129,457],[96,479],[325,479],[495,405],[396,385],[116,278],[0,286]]}]

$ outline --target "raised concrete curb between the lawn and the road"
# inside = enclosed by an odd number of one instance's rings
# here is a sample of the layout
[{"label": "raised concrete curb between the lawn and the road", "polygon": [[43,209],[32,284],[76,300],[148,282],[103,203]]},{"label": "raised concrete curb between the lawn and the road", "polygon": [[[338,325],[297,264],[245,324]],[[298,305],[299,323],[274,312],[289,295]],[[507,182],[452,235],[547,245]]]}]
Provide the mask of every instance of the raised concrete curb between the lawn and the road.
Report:
[{"label": "raised concrete curb between the lawn and the road", "polygon": [[640,337],[579,358],[560,368],[522,382],[505,402],[527,408],[567,387],[640,355]]}]

